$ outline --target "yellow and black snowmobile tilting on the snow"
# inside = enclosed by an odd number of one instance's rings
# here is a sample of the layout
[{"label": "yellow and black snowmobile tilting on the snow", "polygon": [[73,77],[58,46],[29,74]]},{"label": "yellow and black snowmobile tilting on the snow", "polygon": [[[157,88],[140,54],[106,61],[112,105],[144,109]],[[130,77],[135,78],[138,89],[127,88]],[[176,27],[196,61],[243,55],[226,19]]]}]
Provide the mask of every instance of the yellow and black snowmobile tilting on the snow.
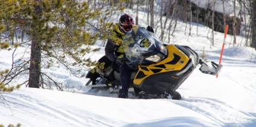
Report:
[{"label": "yellow and black snowmobile tilting on the snow", "polygon": [[[126,64],[132,68],[130,89],[141,99],[168,98],[181,99],[176,91],[191,75],[198,64],[202,73],[217,75],[221,64],[211,61],[208,65],[188,46],[163,45],[154,31],[133,27],[123,39]],[[90,70],[86,87],[97,90],[117,91],[120,86],[120,72],[116,64],[106,56],[98,60]],[[92,82],[92,83],[91,83]],[[90,85],[91,84],[91,85]],[[133,90],[132,90],[133,88]]]}]

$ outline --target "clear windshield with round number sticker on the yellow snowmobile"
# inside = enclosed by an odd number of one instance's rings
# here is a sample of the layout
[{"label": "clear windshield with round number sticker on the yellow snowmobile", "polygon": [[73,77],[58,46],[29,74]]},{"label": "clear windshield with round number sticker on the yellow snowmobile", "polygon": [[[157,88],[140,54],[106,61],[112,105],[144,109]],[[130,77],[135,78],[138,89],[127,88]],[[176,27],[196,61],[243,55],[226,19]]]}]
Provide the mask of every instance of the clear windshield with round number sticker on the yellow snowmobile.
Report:
[{"label": "clear windshield with round number sticker on the yellow snowmobile", "polygon": [[139,26],[126,33],[123,48],[126,57],[136,63],[157,63],[167,55],[167,49],[156,34]]}]

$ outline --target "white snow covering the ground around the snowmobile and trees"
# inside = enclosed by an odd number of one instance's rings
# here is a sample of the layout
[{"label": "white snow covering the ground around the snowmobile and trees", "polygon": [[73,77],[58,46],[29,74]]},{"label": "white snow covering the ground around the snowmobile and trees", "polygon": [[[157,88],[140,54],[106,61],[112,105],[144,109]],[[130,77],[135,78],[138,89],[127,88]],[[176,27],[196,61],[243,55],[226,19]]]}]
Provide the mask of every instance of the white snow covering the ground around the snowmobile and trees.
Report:
[{"label": "white snow covering the ground around the snowmobile and trees", "polygon": [[[128,13],[131,13],[128,11]],[[143,20],[140,12],[139,18]],[[142,23],[145,25],[146,23]],[[191,36],[185,23],[179,22],[170,44],[188,45],[199,55],[205,48],[206,59],[219,63],[223,33],[214,34],[210,48],[209,28],[193,24]],[[198,66],[178,88],[182,99],[138,99],[129,93],[128,99],[117,98],[107,91],[88,93],[86,78],[76,78],[60,67],[43,69],[58,82],[69,84],[65,91],[27,88],[0,94],[0,124],[22,126],[256,126],[256,51],[243,46],[231,46],[226,37],[223,69],[219,78],[201,73]],[[245,43],[237,36],[238,43]],[[97,45],[100,45],[98,43]],[[97,46],[95,45],[95,46]],[[237,44],[238,45],[238,44]],[[13,48],[0,51],[0,69],[11,65]],[[18,48],[14,60],[29,52],[29,46]],[[93,60],[104,55],[104,48],[88,54]],[[25,54],[29,57],[30,54]],[[25,79],[17,79],[22,82]],[[68,92],[69,91],[69,92]]]}]

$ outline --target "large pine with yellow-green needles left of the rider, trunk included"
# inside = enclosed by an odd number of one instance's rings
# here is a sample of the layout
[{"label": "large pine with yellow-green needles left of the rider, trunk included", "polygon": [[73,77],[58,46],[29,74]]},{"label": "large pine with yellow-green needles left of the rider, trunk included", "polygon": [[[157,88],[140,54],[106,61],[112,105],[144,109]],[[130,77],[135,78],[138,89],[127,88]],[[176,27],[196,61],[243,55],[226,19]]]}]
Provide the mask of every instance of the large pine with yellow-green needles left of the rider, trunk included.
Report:
[{"label": "large pine with yellow-green needles left of the rider, trunk included", "polygon": [[121,2],[0,1],[0,33],[8,38],[13,36],[12,31],[21,29],[31,42],[31,57],[20,60],[22,70],[13,70],[12,75],[29,72],[28,81],[22,84],[28,82],[29,87],[36,88],[53,84],[59,90],[62,90],[60,82],[54,81],[42,68],[65,66],[70,73],[84,76],[81,71],[95,64],[85,55],[98,51],[91,46],[98,39],[106,39],[113,26],[113,22],[105,20],[106,16],[110,16],[112,11],[123,10]]}]

